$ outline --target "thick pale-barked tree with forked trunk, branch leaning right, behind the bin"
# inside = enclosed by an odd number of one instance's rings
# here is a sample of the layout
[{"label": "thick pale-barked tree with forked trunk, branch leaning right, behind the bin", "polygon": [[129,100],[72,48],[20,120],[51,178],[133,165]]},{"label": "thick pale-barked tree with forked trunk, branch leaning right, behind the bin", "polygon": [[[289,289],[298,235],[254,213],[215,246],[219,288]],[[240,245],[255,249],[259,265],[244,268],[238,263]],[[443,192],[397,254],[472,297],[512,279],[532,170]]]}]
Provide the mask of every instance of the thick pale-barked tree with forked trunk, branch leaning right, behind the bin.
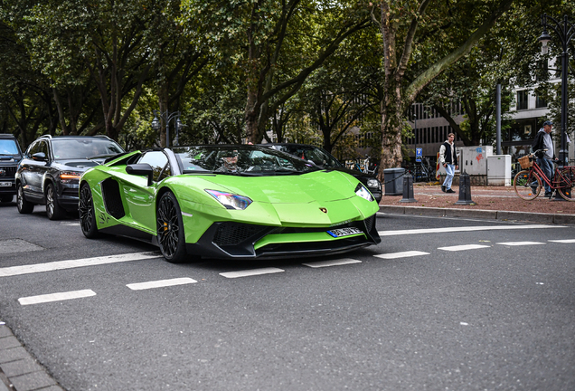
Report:
[{"label": "thick pale-barked tree with forked trunk, branch leaning right, behind the bin", "polygon": [[[383,46],[382,168],[401,165],[403,116],[419,92],[470,52],[512,3],[431,5],[430,0],[422,0],[382,1],[373,6],[372,19],[379,27]],[[414,62],[417,65],[410,68],[407,78],[408,65]],[[380,170],[379,175],[382,173]]]}]

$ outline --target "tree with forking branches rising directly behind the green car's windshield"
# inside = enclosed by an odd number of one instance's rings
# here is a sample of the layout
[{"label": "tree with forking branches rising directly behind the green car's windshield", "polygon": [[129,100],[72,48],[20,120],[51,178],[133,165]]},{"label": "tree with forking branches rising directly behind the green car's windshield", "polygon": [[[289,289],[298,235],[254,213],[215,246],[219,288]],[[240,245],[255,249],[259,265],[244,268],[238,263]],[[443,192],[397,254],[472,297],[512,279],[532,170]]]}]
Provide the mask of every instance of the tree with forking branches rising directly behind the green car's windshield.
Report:
[{"label": "tree with forking branches rising directly behind the green car's windshield", "polygon": [[183,0],[183,9],[193,39],[229,58],[245,80],[246,136],[253,143],[270,115],[369,22],[345,2],[317,0]]}]

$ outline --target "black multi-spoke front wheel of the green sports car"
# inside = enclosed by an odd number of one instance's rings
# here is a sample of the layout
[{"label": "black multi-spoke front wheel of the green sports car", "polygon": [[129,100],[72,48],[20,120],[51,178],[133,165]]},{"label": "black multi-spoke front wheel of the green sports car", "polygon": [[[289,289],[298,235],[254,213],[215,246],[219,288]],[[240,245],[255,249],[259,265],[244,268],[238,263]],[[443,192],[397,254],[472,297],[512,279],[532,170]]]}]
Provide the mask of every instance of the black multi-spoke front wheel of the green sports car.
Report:
[{"label": "black multi-spoke front wheel of the green sports car", "polygon": [[171,192],[164,193],[157,203],[156,233],[160,251],[167,262],[180,263],[188,260],[182,210]]}]

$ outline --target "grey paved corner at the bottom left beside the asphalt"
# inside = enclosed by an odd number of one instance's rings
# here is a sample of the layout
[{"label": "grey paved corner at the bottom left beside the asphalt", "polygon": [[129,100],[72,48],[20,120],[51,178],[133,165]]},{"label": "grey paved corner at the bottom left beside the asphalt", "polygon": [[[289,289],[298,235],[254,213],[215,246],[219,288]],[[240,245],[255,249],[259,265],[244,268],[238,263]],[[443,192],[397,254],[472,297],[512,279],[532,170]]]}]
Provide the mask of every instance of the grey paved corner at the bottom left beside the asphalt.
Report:
[{"label": "grey paved corner at the bottom left beside the asphalt", "polygon": [[64,391],[0,321],[0,391]]}]

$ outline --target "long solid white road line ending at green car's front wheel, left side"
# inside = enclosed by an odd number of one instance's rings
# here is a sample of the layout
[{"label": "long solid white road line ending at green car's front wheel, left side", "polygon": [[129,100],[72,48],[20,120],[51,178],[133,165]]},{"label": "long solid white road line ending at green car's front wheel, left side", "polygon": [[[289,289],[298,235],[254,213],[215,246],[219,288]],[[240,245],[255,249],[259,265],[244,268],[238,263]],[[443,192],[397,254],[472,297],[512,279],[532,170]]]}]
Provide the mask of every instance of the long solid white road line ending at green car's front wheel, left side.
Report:
[{"label": "long solid white road line ending at green car's front wheel, left side", "polygon": [[158,253],[126,253],[119,255],[108,255],[96,258],[84,258],[71,261],[57,261],[46,263],[35,263],[23,266],[11,266],[0,269],[0,277],[9,277],[21,274],[32,274],[37,272],[53,272],[62,269],[72,269],[83,266],[95,266],[106,263],[141,261],[150,258],[159,258]]}]

